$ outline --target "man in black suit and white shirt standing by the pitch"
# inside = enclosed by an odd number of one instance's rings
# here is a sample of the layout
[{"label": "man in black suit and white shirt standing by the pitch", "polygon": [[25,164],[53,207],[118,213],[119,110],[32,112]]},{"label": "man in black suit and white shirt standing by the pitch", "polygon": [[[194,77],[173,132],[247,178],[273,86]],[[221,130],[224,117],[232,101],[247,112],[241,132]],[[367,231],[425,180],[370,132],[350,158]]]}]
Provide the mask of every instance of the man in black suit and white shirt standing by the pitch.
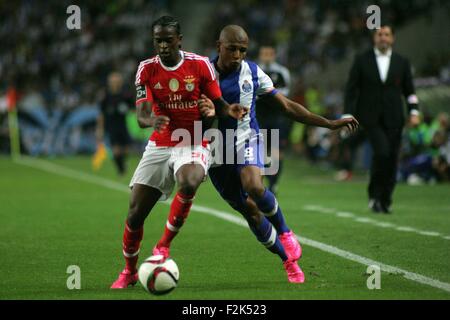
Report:
[{"label": "man in black suit and white shirt standing by the pitch", "polygon": [[373,149],[368,187],[369,207],[375,213],[390,213],[396,184],[397,160],[405,112],[409,121],[419,121],[409,61],[392,52],[394,32],[383,25],[373,35],[374,48],[357,55],[345,92],[345,113],[356,117]]}]

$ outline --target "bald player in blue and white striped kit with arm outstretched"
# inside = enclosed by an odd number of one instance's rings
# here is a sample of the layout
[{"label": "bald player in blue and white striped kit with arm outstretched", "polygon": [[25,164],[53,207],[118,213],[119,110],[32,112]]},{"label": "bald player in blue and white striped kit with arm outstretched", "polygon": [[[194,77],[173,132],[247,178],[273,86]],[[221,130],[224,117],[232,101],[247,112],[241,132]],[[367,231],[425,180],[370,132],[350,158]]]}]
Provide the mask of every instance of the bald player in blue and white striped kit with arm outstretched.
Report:
[{"label": "bald player in blue and white striped kit with arm outstretched", "polygon": [[[272,80],[256,63],[245,60],[247,48],[248,36],[240,26],[229,25],[221,31],[217,42],[219,55],[213,63],[222,96],[228,103],[249,107],[249,112],[242,120],[219,119],[219,129],[224,137],[227,129],[236,130],[236,138],[231,144],[233,154],[243,153],[244,161],[212,167],[209,176],[220,195],[246,218],[258,241],[281,258],[289,282],[303,283],[305,276],[297,263],[302,254],[301,246],[287,226],[277,199],[262,182],[264,144],[256,120],[256,98],[269,99],[274,112],[284,111],[293,120],[310,125],[332,130],[348,127],[353,131],[358,122],[353,117],[328,120],[289,100],[274,88]],[[212,103],[207,97],[202,98],[204,103]]]}]

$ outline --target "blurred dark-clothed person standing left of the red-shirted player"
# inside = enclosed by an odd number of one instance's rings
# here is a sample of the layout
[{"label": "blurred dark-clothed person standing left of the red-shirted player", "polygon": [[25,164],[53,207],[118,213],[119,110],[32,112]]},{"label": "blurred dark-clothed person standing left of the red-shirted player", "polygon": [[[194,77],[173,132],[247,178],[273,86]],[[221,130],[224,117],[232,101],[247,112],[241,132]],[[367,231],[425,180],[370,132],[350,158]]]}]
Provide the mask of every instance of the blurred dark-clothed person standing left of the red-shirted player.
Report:
[{"label": "blurred dark-clothed person standing left of the red-shirted player", "polygon": [[100,113],[97,119],[97,145],[106,138],[111,147],[117,173],[126,173],[126,157],[131,144],[126,116],[134,105],[133,97],[123,90],[123,78],[119,72],[111,72],[108,76],[108,87],[100,101]]}]

